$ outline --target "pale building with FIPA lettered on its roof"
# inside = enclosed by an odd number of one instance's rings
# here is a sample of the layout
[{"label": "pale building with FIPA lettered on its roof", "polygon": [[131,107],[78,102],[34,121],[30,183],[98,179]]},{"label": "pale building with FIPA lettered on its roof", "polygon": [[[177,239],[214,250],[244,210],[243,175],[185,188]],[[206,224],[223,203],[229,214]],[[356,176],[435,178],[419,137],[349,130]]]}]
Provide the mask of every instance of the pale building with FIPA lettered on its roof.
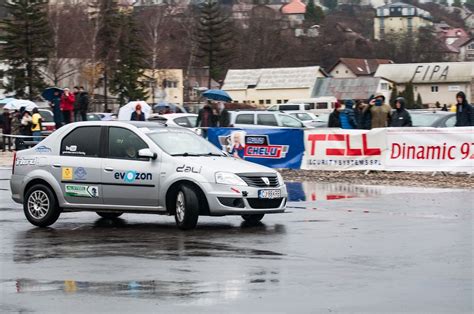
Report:
[{"label": "pale building with FIPA lettered on its roof", "polygon": [[411,81],[425,105],[454,104],[459,91],[474,103],[474,62],[381,64],[374,76],[396,83],[399,91]]}]

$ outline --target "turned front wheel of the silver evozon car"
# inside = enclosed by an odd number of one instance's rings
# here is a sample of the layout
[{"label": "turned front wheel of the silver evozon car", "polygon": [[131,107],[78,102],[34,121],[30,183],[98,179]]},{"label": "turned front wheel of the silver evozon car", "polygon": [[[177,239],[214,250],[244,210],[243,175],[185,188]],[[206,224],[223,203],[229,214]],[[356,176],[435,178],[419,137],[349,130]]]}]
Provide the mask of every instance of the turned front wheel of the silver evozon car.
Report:
[{"label": "turned front wheel of the silver evozon car", "polygon": [[176,193],[174,218],[181,230],[194,229],[199,218],[199,199],[193,188],[182,185]]}]

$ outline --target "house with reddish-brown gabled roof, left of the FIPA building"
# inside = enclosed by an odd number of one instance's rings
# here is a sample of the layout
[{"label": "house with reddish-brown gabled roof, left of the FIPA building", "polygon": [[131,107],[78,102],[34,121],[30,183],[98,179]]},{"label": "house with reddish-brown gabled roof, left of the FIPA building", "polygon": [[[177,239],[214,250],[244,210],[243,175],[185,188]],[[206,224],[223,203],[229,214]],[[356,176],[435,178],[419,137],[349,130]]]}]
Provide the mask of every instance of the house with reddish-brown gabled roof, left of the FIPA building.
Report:
[{"label": "house with reddish-brown gabled roof, left of the FIPA building", "polygon": [[328,71],[331,77],[355,78],[373,76],[380,64],[391,64],[388,59],[354,59],[340,58]]}]

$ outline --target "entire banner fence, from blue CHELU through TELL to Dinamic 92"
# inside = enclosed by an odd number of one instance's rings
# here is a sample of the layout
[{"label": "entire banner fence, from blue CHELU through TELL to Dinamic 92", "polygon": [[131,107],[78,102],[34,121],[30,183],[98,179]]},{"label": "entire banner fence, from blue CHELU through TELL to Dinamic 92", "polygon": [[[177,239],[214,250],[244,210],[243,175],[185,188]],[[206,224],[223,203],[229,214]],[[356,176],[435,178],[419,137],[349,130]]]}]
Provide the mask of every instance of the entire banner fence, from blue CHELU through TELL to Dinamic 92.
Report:
[{"label": "entire banner fence, from blue CHELU through TELL to Dinamic 92", "polygon": [[210,128],[235,157],[271,168],[474,172],[474,128]]}]

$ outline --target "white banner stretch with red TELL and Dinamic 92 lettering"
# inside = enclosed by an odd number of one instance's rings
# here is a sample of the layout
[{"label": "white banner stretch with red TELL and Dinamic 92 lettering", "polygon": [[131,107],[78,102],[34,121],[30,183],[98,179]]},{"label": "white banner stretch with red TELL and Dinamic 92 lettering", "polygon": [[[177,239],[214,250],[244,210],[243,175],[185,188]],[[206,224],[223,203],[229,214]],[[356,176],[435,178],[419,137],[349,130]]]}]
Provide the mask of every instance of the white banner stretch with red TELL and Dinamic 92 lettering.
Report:
[{"label": "white banner stretch with red TELL and Dinamic 92 lettering", "polygon": [[474,171],[474,128],[316,129],[302,169]]}]

